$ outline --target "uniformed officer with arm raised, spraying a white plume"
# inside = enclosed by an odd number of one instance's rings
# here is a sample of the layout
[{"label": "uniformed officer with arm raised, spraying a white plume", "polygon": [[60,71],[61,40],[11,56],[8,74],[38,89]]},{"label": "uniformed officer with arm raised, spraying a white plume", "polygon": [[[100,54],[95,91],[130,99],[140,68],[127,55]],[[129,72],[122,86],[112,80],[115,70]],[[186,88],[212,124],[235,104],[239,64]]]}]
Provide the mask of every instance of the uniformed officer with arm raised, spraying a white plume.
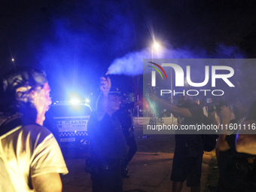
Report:
[{"label": "uniformed officer with arm raised, spraying a white plume", "polygon": [[120,108],[120,94],[109,92],[109,78],[100,80],[102,93],[88,122],[93,192],[120,192],[123,191],[121,163],[126,157],[126,141],[114,114]]}]

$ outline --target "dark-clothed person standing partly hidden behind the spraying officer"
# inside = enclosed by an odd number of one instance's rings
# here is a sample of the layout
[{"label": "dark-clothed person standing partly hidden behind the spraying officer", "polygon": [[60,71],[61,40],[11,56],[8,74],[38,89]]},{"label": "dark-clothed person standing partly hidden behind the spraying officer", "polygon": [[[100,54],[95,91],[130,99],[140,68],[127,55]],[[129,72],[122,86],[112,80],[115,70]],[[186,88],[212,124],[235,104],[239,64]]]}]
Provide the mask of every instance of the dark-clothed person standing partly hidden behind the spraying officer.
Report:
[{"label": "dark-clothed person standing partly hidden behind the spraying officer", "polygon": [[117,115],[118,120],[120,120],[120,124],[123,130],[123,136],[126,139],[126,145],[129,146],[127,157],[122,163],[122,176],[124,178],[129,178],[129,175],[127,175],[128,169],[126,169],[126,166],[133,159],[133,156],[136,154],[137,151],[137,143],[135,140],[133,127],[133,114],[131,111],[131,109],[134,108],[135,103],[128,103],[127,97],[125,95],[121,96],[120,100],[120,109],[115,114]]}]

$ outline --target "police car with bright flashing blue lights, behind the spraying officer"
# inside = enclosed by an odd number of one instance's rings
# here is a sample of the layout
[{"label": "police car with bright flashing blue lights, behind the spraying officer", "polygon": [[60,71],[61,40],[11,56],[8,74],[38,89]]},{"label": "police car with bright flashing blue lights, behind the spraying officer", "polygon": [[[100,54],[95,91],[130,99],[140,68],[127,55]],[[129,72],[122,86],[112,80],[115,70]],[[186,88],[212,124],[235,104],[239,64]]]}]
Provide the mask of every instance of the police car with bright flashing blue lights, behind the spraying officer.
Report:
[{"label": "police car with bright flashing blue lights, behind the spraying officer", "polygon": [[54,102],[50,113],[56,120],[62,146],[88,145],[87,123],[92,109],[86,102]]}]

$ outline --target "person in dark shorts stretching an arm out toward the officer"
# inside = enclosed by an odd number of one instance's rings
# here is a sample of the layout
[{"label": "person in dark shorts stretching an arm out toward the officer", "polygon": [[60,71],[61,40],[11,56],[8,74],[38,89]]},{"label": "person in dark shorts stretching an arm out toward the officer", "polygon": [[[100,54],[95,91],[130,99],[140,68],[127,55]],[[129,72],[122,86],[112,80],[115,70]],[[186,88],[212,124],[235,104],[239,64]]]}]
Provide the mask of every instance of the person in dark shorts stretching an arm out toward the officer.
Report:
[{"label": "person in dark shorts stretching an arm out toward the officer", "polygon": [[[171,102],[151,95],[151,101],[167,108],[172,114],[181,117],[181,125],[196,125],[203,122],[203,109],[194,102],[192,96],[179,95],[179,107]],[[203,137],[199,134],[175,133],[175,154],[172,163],[172,191],[181,191],[187,180],[191,191],[200,191],[200,178],[203,160]]]}]

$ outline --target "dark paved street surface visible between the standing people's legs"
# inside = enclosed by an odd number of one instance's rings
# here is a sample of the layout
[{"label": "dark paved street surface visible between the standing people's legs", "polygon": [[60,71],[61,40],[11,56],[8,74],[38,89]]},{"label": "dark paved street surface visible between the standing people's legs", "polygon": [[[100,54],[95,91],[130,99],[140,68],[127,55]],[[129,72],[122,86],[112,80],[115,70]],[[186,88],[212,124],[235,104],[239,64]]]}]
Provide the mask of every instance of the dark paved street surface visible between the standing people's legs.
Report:
[{"label": "dark paved street surface visible between the standing people's legs", "polygon": [[[171,191],[172,181],[169,180],[172,171],[173,153],[148,153],[138,152],[129,165],[130,178],[123,178],[124,191],[138,192],[165,192]],[[211,156],[204,155],[202,184],[206,184]],[[62,176],[63,192],[90,192],[90,174],[84,172],[84,158],[66,160],[69,167],[69,174]],[[183,187],[182,191],[190,191],[190,188]]]}]

